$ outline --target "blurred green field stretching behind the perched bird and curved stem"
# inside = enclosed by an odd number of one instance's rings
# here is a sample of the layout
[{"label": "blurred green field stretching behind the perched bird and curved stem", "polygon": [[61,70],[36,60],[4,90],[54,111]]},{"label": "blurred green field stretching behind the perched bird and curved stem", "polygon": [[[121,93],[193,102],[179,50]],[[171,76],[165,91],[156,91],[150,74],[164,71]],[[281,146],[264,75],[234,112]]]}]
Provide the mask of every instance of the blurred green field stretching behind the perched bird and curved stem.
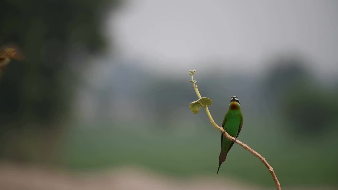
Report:
[{"label": "blurred green field stretching behind the perched bird and curved stem", "polygon": [[[73,126],[59,164],[74,171],[131,165],[177,177],[216,175],[220,134],[207,122],[204,126],[176,126],[175,130],[139,125],[129,131],[130,126],[116,123]],[[334,133],[325,139],[305,141],[288,138],[288,134],[276,128],[263,128],[260,123],[244,125],[239,140],[266,158],[283,185],[338,185],[334,177],[338,174],[338,141]],[[260,137],[263,129],[269,135]],[[266,167],[239,145],[234,145],[219,175],[273,185]]]}]

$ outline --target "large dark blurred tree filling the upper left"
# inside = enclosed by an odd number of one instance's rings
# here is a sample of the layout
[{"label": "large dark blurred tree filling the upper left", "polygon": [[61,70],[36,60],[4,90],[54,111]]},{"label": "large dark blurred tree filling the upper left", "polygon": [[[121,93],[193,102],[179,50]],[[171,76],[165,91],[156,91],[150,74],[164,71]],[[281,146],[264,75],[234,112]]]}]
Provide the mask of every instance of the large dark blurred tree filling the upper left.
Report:
[{"label": "large dark blurred tree filling the upper left", "polygon": [[27,160],[22,150],[28,134],[49,142],[62,129],[85,55],[104,48],[100,29],[118,5],[119,0],[1,2],[0,45],[14,42],[26,57],[24,63],[11,62],[0,81],[1,157]]}]

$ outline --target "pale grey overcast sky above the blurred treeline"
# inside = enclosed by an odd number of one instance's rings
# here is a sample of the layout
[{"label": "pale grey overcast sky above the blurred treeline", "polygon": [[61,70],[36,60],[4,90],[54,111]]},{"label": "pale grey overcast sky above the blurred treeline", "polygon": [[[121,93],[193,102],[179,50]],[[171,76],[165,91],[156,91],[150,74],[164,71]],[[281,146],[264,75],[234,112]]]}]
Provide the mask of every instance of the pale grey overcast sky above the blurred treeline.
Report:
[{"label": "pale grey overcast sky above the blurred treeline", "polygon": [[157,69],[236,60],[257,71],[296,50],[319,73],[338,71],[337,0],[129,0],[108,28],[120,55]]}]

